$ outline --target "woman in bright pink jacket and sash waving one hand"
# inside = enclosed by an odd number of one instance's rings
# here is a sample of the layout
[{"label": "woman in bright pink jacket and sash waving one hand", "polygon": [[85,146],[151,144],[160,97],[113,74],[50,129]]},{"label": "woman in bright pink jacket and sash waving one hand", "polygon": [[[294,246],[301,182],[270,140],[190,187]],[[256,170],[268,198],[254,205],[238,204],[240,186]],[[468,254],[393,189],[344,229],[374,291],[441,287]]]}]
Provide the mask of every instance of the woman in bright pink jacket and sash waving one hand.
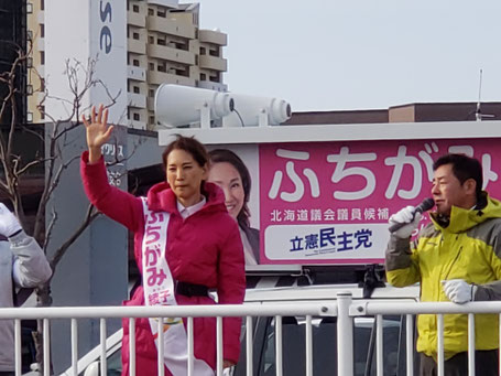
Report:
[{"label": "woman in bright pink jacket and sash waving one hand", "polygon": [[[134,256],[143,283],[127,305],[239,304],[246,289],[243,250],[237,223],[225,207],[222,192],[207,183],[208,154],[193,138],[178,136],[163,153],[166,181],[148,197],[135,197],[108,184],[101,147],[111,136],[108,111],[92,107],[84,118],[88,151],[81,155],[81,176],[90,202],[134,233]],[[173,293],[171,293],[173,292]],[[164,319],[166,375],[186,375],[186,320]],[[240,352],[237,318],[224,319],[224,367]],[[157,323],[137,319],[137,375],[157,373]],[[123,322],[122,375],[129,374],[129,321]],[[216,320],[194,320],[195,375],[214,375]]]}]

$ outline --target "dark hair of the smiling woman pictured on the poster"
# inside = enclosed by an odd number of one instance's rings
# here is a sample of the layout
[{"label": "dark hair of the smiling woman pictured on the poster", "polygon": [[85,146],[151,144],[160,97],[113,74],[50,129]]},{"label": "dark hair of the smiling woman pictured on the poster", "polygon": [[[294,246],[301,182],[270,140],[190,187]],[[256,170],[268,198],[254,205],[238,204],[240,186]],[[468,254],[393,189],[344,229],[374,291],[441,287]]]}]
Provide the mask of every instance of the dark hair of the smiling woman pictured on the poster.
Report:
[{"label": "dark hair of the smiling woman pictured on the poster", "polygon": [[209,155],[211,164],[221,162],[230,163],[240,174],[240,179],[242,180],[243,185],[243,206],[240,210],[240,213],[237,215],[237,221],[240,226],[249,227],[250,211],[249,206],[247,205],[247,203],[249,202],[251,190],[251,178],[249,170],[247,169],[246,164],[242,162],[240,157],[238,157],[231,150],[215,149],[209,152]]}]

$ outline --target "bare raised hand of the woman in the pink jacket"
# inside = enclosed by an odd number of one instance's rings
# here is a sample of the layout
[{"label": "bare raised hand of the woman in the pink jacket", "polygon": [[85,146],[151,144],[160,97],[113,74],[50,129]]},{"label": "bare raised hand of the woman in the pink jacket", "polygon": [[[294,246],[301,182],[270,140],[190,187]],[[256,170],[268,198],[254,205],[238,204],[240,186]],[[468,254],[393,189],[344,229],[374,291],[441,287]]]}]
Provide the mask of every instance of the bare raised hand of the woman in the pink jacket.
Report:
[{"label": "bare raised hand of the woman in the pink jacket", "polygon": [[90,122],[85,115],[81,116],[86,132],[87,147],[89,149],[89,163],[94,164],[101,158],[101,147],[109,140],[113,126],[108,127],[108,109],[99,105],[99,110],[96,114],[96,106],[90,110]]}]

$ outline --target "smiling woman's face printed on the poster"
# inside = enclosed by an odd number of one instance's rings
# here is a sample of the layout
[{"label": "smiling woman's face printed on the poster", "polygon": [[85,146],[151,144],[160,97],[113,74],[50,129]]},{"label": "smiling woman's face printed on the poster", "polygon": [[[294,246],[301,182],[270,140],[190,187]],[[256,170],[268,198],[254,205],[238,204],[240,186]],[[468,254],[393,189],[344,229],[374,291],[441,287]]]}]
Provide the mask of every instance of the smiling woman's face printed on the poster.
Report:
[{"label": "smiling woman's face printed on the poster", "polygon": [[210,166],[208,180],[217,184],[225,192],[226,208],[237,219],[246,200],[240,173],[231,163],[217,162]]}]

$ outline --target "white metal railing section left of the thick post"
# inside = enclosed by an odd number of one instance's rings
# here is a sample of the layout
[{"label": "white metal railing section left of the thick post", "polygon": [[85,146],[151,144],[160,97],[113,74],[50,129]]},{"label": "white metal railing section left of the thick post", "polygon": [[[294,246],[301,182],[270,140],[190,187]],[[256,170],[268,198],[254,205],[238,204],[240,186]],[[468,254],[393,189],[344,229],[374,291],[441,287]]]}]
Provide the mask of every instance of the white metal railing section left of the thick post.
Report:
[{"label": "white metal railing section left of the thick post", "polygon": [[[307,325],[307,350],[305,356],[307,363],[306,376],[313,376],[313,361],[312,361],[312,316],[333,316],[337,314],[336,303],[273,303],[265,305],[230,305],[230,304],[215,304],[215,305],[176,305],[176,307],[54,307],[54,308],[9,308],[0,309],[0,320],[13,319],[14,320],[14,356],[15,356],[15,376],[21,376],[21,320],[43,320],[44,333],[48,333],[48,324],[54,319],[68,319],[72,323],[70,343],[72,343],[72,374],[78,375],[77,361],[78,361],[78,331],[77,319],[100,319],[100,348],[101,348],[101,375],[107,374],[106,364],[106,319],[115,318],[130,318],[130,375],[135,375],[135,337],[134,326],[137,318],[187,318],[187,336],[188,336],[188,376],[194,376],[193,373],[193,319],[194,318],[216,318],[217,326],[217,376],[222,376],[222,318],[230,316],[244,316],[247,322],[247,374],[252,375],[252,318],[253,316],[273,316],[277,323],[281,322],[282,316],[306,316]],[[162,346],[163,327],[162,321],[159,320],[159,344]],[[279,369],[282,369],[282,337],[281,325],[276,325],[276,375],[282,375]],[[250,344],[250,345],[249,345]],[[50,375],[50,336],[44,335],[43,341],[44,353],[44,367],[43,375]],[[159,375],[163,375],[163,356],[162,348],[159,348]],[[333,354],[334,355],[334,354]]]}]

